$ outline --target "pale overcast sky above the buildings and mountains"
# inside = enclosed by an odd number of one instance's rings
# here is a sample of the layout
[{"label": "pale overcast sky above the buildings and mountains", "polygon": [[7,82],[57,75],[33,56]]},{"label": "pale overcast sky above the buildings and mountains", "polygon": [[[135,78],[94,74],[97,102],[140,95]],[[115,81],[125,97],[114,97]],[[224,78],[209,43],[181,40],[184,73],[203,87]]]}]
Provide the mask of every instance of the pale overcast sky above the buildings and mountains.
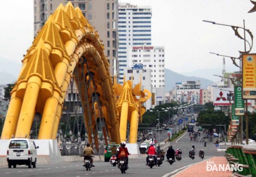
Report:
[{"label": "pale overcast sky above the buildings and mountains", "polygon": [[[152,45],[165,47],[165,66],[174,72],[223,68],[221,56],[239,56],[244,41],[229,26],[249,29],[256,35],[256,12],[250,0],[119,0],[152,7]],[[0,60],[21,63],[33,42],[33,0],[11,0],[0,5]],[[243,33],[241,33],[243,35]],[[249,35],[246,35],[249,38]],[[248,49],[248,46],[247,46]],[[254,46],[251,53],[256,53]],[[230,58],[225,66],[237,70]],[[203,73],[202,73],[203,75]],[[216,73],[221,75],[221,73]]]}]

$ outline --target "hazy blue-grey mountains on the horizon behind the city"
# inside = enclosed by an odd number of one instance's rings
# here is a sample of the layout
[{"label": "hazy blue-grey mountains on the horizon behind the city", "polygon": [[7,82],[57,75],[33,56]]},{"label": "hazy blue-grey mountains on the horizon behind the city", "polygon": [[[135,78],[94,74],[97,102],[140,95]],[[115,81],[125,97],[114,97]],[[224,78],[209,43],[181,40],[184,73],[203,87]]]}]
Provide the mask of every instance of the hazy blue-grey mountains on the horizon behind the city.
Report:
[{"label": "hazy blue-grey mountains on the horizon behind the city", "polygon": [[[12,84],[16,82],[19,72],[21,70],[21,63],[17,63],[14,61],[6,60],[6,59],[0,59],[0,85],[6,85],[6,84]],[[209,70],[208,72],[204,72],[202,70],[199,70],[198,72],[195,71],[195,74],[200,73],[207,73],[204,74],[204,77],[208,78]],[[188,74],[188,73],[187,73]],[[191,75],[191,73],[190,73]],[[212,75],[211,75],[212,76]],[[214,82],[210,79],[204,79],[201,77],[191,77],[191,76],[185,76],[182,74],[179,74],[177,72],[173,72],[169,69],[165,69],[165,87],[166,92],[172,90],[175,86],[176,82],[186,82],[186,81],[201,81],[201,88],[206,89],[207,86],[213,84]]]}]

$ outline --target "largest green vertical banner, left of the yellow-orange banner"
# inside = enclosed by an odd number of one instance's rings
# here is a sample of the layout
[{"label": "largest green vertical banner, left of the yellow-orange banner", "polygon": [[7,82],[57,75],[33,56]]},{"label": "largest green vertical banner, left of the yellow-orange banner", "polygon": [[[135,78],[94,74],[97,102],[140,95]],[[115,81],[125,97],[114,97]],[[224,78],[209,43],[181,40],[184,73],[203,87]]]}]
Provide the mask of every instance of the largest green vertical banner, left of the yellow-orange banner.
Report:
[{"label": "largest green vertical banner, left of the yellow-orange banner", "polygon": [[244,100],[242,99],[242,86],[235,86],[235,115],[244,115]]}]

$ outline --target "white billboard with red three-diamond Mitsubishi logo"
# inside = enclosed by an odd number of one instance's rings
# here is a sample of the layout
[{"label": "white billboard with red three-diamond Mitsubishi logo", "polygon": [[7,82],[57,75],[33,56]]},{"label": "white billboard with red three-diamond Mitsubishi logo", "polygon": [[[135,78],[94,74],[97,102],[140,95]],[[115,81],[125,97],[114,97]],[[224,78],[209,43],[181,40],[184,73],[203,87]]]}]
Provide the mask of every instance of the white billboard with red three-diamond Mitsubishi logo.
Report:
[{"label": "white billboard with red three-diamond Mitsubishi logo", "polygon": [[234,103],[234,88],[214,88],[213,105],[231,105]]}]

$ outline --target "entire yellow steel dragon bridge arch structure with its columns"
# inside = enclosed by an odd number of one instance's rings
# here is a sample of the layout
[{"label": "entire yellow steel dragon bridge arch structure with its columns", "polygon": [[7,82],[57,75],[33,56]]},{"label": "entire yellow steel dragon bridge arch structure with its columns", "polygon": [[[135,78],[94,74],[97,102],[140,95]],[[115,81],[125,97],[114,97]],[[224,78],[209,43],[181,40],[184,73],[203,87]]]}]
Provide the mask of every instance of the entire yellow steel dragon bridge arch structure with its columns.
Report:
[{"label": "entire yellow steel dragon bridge arch structure with its columns", "polygon": [[[22,60],[11,92],[2,140],[28,137],[35,119],[41,117],[38,139],[55,140],[63,116],[65,97],[73,84],[78,89],[83,123],[90,144],[137,142],[138,123],[145,113],[143,103],[151,93],[133,88],[132,81],[112,80],[104,45],[81,10],[71,2],[61,4],[49,17]],[[69,117],[68,117],[69,118]]]}]

